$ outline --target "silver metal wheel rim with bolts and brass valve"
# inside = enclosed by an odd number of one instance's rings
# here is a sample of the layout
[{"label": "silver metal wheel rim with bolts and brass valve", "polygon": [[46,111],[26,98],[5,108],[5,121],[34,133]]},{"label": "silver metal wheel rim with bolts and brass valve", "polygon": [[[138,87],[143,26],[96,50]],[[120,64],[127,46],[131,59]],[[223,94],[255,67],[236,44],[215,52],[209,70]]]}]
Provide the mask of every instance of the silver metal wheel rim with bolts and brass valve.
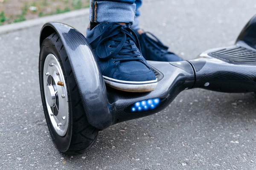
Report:
[{"label": "silver metal wheel rim with bolts and brass valve", "polygon": [[65,136],[69,124],[67,87],[58,59],[48,54],[44,62],[44,96],[52,126]]}]

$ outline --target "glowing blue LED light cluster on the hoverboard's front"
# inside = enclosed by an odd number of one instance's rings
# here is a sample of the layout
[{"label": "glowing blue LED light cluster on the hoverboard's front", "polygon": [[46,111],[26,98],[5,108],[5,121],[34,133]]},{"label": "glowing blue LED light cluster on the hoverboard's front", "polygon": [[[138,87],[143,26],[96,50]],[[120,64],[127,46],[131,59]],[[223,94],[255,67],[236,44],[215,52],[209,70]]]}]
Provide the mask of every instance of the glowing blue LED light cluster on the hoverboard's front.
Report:
[{"label": "glowing blue LED light cluster on the hoverboard's front", "polygon": [[132,112],[153,110],[160,104],[160,99],[148,99],[141,102],[136,102],[132,107]]}]

